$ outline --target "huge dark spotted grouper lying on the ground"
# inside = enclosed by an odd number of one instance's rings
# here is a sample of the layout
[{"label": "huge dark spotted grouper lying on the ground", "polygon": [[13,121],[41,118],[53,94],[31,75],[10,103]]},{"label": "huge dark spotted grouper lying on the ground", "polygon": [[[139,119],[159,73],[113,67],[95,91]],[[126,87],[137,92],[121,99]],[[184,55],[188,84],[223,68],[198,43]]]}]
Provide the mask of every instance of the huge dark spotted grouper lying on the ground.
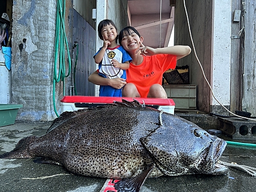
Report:
[{"label": "huge dark spotted grouper lying on the ground", "polygon": [[117,191],[139,191],[147,177],[226,174],[218,164],[225,146],[183,118],[122,100],[62,113],[45,135],[21,139],[0,158],[41,157],[77,175],[121,179]]}]

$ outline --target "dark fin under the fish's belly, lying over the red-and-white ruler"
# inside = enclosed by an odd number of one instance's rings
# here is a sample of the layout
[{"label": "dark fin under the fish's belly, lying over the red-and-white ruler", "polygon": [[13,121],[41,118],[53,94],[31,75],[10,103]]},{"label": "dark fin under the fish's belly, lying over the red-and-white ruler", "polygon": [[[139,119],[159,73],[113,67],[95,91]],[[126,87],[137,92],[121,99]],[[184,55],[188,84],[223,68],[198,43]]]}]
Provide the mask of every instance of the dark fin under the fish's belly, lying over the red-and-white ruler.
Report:
[{"label": "dark fin under the fish's belly, lying over the red-and-white ruler", "polygon": [[154,167],[155,165],[152,163],[148,165],[137,177],[130,179],[121,179],[120,181],[115,183],[115,189],[118,192],[138,192]]}]

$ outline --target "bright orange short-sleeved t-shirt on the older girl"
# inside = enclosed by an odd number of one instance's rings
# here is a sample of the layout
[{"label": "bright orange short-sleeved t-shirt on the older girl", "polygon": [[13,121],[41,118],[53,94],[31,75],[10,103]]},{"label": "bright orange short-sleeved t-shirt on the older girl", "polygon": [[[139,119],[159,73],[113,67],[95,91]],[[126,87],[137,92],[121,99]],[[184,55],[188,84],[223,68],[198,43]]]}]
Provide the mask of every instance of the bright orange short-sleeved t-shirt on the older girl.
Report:
[{"label": "bright orange short-sleeved t-shirt on the older girl", "polygon": [[168,69],[175,69],[176,55],[157,54],[143,56],[140,65],[135,66],[130,62],[130,68],[126,70],[126,82],[133,83],[141,97],[147,97],[153,84],[162,84],[163,73]]}]

